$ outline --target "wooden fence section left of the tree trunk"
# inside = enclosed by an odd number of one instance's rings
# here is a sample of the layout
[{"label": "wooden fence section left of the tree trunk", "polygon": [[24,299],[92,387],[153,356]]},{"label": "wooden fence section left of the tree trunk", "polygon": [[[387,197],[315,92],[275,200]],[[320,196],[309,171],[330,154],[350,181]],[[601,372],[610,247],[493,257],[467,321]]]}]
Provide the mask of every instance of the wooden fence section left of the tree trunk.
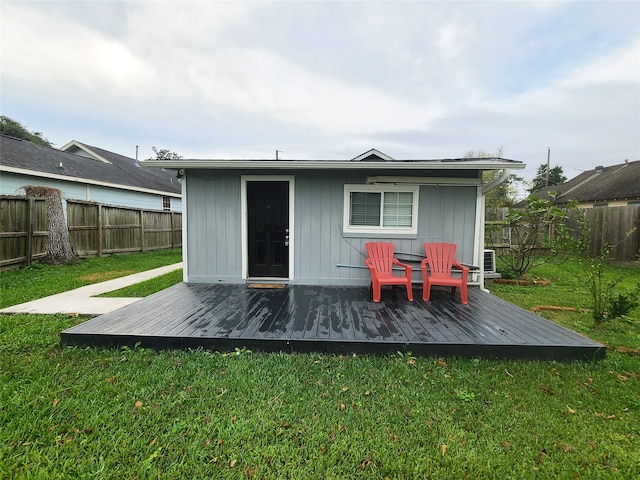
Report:
[{"label": "wooden fence section left of the tree trunk", "polygon": [[47,228],[44,198],[0,197],[0,267],[43,258]]}]

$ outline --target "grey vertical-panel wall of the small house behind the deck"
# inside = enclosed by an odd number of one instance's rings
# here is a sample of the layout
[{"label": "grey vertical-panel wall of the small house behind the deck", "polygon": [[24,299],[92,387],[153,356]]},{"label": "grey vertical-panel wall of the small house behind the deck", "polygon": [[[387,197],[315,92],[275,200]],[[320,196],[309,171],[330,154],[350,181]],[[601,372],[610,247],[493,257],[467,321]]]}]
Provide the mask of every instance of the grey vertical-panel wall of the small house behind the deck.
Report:
[{"label": "grey vertical-panel wall of the small house behind the deck", "polygon": [[[190,171],[187,182],[187,281],[242,283],[241,175],[257,172]],[[274,174],[262,172],[263,174]],[[289,173],[289,172],[287,172]],[[290,283],[367,285],[364,244],[380,237],[345,236],[344,185],[364,184],[375,172],[293,172],[294,270]],[[379,174],[379,173],[378,173]],[[391,173],[390,175],[393,175]],[[403,175],[406,175],[404,173]],[[423,173],[424,175],[424,173]],[[457,257],[473,263],[477,189],[422,186],[418,234],[390,239],[397,252],[423,254],[427,241],[458,244]],[[386,239],[389,240],[389,239]],[[415,279],[420,278],[419,264]]]}]

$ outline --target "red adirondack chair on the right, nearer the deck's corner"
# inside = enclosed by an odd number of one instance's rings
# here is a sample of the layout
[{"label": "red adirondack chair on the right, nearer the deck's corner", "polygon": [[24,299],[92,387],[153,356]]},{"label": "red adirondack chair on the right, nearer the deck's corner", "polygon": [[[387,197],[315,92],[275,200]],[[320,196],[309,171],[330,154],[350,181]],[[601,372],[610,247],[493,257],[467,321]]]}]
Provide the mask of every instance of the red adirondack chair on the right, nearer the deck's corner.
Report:
[{"label": "red adirondack chair on the right, nearer the deck's corner", "polygon": [[[425,302],[429,301],[432,285],[444,285],[451,287],[452,295],[456,293],[456,287],[460,287],[462,303],[468,304],[467,277],[469,276],[469,268],[455,260],[456,244],[425,243],[424,252],[427,258],[420,263],[423,282],[422,299]],[[429,266],[429,272],[427,272],[427,265]],[[460,278],[452,276],[451,269],[454,266],[462,270]]]}]

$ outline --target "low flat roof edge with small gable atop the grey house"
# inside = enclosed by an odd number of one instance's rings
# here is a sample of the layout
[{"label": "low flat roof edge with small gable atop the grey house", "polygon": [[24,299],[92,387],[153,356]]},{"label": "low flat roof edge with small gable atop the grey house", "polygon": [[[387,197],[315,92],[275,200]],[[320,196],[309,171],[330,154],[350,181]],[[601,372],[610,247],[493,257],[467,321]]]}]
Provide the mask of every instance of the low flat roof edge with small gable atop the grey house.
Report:
[{"label": "low flat roof edge with small gable atop the grey house", "polygon": [[220,170],[521,170],[526,167],[522,162],[504,158],[396,160],[375,149],[351,160],[150,159],[140,164],[149,167]]}]

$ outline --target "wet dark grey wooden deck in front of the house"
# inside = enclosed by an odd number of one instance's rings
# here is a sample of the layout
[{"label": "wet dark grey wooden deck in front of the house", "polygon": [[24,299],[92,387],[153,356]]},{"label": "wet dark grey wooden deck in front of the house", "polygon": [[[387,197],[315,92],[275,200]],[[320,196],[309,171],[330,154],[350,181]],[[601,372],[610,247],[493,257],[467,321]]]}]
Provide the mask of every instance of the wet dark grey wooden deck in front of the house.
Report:
[{"label": "wet dark grey wooden deck in front of the house", "polygon": [[61,333],[66,345],[597,360],[605,347],[493,295],[181,283]]}]

